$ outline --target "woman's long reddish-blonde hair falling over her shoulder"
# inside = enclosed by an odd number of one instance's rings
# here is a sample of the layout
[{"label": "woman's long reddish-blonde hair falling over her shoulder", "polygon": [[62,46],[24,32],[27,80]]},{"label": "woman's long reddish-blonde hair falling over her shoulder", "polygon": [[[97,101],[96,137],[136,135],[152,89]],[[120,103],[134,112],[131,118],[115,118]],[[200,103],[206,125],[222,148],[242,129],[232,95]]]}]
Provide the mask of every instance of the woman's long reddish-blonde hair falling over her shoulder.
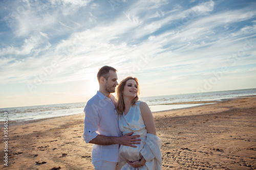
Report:
[{"label": "woman's long reddish-blonde hair falling over her shoulder", "polygon": [[123,93],[124,86],[126,85],[126,82],[127,82],[128,80],[135,80],[136,83],[137,83],[137,89],[138,89],[138,93],[137,93],[136,97],[132,100],[132,106],[134,106],[135,103],[139,100],[138,95],[139,95],[139,93],[140,93],[140,90],[139,90],[139,82],[138,82],[138,79],[137,79],[137,78],[133,78],[133,77],[127,77],[127,78],[123,79],[123,80],[119,83],[119,85],[118,85],[118,87],[117,87],[117,99],[118,99],[118,101],[117,101],[116,110],[117,110],[117,112],[120,113],[120,114],[122,114],[123,111],[124,111],[124,109],[125,109],[122,93]]}]

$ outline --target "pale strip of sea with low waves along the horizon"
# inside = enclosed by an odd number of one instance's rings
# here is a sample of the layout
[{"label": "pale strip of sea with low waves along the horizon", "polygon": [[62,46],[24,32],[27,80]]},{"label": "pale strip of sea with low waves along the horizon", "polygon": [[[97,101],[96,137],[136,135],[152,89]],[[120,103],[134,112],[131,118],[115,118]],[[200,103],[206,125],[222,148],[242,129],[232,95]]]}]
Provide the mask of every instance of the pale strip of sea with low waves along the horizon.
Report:
[{"label": "pale strip of sea with low waves along the horizon", "polygon": [[[193,107],[203,104],[173,104],[182,102],[196,102],[196,101],[221,101],[224,99],[237,98],[239,96],[256,95],[256,88],[243,90],[228,90],[189,94],[173,94],[161,96],[141,97],[139,100],[146,102],[151,108],[152,112],[179,109],[185,107]],[[54,105],[40,105],[40,106],[26,106],[26,107],[12,107],[0,108],[0,113],[3,115],[0,122],[4,121],[4,113],[8,113],[8,121],[10,122],[25,122],[30,120],[46,119],[52,117],[68,116],[83,113],[86,102],[81,103],[67,103]]]}]

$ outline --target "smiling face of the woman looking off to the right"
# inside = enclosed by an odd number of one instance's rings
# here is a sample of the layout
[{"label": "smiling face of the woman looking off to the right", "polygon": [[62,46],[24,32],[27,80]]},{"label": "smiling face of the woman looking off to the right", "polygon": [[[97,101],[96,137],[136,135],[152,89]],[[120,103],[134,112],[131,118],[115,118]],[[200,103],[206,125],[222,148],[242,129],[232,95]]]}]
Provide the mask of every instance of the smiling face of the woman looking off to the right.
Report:
[{"label": "smiling face of the woman looking off to the right", "polygon": [[138,88],[137,88],[136,81],[133,79],[127,80],[123,88],[123,97],[135,98],[137,93],[138,93]]}]

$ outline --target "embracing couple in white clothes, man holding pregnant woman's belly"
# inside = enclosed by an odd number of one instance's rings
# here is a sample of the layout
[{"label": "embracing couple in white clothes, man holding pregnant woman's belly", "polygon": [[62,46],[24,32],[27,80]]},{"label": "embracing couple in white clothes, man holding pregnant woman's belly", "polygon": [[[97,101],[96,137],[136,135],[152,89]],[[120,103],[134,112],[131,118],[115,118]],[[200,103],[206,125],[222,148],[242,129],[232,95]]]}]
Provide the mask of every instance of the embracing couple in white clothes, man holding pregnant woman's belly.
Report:
[{"label": "embracing couple in white clothes, man holding pregnant woman's belly", "polygon": [[[161,169],[161,139],[152,112],[138,101],[139,84],[127,77],[117,83],[117,70],[99,69],[99,91],[84,108],[83,138],[93,143],[95,170]],[[111,94],[117,86],[117,99]]]}]

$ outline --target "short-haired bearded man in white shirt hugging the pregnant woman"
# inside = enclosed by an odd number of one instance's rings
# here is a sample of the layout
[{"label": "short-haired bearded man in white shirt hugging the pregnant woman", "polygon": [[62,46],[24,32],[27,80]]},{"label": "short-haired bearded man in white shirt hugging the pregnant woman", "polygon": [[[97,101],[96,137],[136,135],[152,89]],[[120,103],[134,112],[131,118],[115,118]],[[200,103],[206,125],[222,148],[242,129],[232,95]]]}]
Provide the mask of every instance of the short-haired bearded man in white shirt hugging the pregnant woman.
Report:
[{"label": "short-haired bearded man in white shirt hugging the pregnant woman", "polygon": [[133,132],[123,135],[118,127],[118,113],[116,99],[111,94],[115,92],[117,83],[116,69],[103,66],[99,69],[97,79],[99,91],[84,108],[83,139],[86,143],[93,143],[92,163],[95,170],[115,169],[118,162],[119,144],[136,148],[139,144],[139,135],[132,136]]}]

